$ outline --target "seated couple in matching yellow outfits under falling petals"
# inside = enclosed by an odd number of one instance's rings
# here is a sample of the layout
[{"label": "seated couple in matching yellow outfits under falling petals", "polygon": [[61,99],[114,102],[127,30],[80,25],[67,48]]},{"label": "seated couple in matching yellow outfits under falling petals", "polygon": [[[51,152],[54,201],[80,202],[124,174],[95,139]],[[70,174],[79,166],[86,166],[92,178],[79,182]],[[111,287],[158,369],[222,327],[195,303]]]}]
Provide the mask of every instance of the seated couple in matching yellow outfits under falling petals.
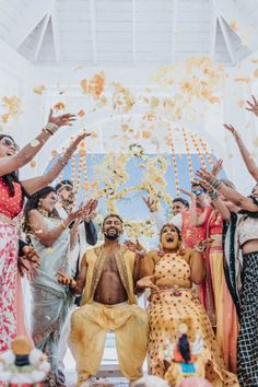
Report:
[{"label": "seated couple in matching yellow outfits under falling petals", "polygon": [[[238,386],[236,376],[224,370],[209,318],[191,290],[192,282],[206,275],[201,254],[180,248],[180,232],[174,225],[161,231],[162,251],[149,254],[139,244],[119,244],[118,215],[104,220],[103,233],[104,244],[84,255],[77,281],[59,273],[62,284],[83,293],[71,317],[77,386],[91,385],[110,330],[120,370],[131,386],[142,376],[146,352],[152,375],[171,386],[192,375],[218,387]],[[137,305],[134,294],[145,288],[151,289],[148,313]]]}]

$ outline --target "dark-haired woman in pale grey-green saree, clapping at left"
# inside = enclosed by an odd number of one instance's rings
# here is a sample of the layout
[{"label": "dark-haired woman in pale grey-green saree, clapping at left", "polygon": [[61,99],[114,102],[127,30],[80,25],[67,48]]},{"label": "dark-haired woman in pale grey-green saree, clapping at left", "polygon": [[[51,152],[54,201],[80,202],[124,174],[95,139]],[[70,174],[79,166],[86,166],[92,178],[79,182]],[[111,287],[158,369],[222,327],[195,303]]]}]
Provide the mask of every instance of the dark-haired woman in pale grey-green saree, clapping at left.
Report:
[{"label": "dark-haired woman in pale grey-green saree, clapping at left", "polygon": [[32,338],[51,364],[45,386],[64,384],[63,375],[58,372],[58,344],[73,296],[68,286],[58,283],[57,272],[70,272],[69,225],[82,212],[72,212],[61,220],[55,211],[55,190],[48,186],[34,194],[25,207],[25,228],[40,258],[38,272],[31,281]]}]

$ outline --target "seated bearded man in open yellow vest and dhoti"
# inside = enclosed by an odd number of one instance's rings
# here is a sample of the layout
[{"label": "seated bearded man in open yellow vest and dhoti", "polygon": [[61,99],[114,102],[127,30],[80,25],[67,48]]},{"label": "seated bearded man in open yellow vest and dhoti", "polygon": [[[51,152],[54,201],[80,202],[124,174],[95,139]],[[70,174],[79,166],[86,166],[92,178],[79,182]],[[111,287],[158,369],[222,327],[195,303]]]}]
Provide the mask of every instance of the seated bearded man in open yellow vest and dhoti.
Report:
[{"label": "seated bearded man in open yellow vest and dhoti", "polygon": [[103,245],[89,250],[77,281],[59,273],[74,294],[83,293],[71,317],[71,351],[77,361],[78,387],[90,386],[104,352],[106,333],[115,331],[118,362],[131,385],[142,376],[146,354],[148,316],[133,293],[140,256],[119,244],[122,221],[108,215],[103,222]]}]

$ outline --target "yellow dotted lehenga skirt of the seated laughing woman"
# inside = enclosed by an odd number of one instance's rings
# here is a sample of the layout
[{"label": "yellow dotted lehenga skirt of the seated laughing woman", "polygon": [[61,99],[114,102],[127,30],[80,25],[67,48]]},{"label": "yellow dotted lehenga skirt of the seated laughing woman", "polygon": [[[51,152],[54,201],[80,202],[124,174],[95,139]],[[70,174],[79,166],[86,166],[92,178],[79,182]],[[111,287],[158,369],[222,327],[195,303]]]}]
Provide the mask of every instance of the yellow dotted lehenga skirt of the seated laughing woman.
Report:
[{"label": "yellow dotted lehenga skirt of the seated laughing woman", "polygon": [[[175,344],[178,340],[179,325],[188,326],[188,337],[194,342],[196,335],[200,333],[203,340],[204,375],[212,386],[236,387],[237,377],[227,372],[215,339],[209,317],[199,298],[191,290],[172,288],[154,292],[148,307],[149,335],[149,363],[151,374],[165,378],[171,386],[176,385],[176,373],[173,367],[167,368],[160,360],[159,353],[163,343],[168,339]],[[200,372],[200,368],[199,368]]]}]

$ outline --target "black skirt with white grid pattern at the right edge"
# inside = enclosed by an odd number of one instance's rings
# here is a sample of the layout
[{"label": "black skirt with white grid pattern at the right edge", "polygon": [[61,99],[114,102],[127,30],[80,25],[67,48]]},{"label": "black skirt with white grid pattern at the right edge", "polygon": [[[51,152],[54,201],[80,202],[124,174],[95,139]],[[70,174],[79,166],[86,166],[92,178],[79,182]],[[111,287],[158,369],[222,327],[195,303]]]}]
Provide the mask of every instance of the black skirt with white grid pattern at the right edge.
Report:
[{"label": "black skirt with white grid pattern at the right edge", "polygon": [[258,386],[258,251],[243,256],[237,374],[241,386]]}]

